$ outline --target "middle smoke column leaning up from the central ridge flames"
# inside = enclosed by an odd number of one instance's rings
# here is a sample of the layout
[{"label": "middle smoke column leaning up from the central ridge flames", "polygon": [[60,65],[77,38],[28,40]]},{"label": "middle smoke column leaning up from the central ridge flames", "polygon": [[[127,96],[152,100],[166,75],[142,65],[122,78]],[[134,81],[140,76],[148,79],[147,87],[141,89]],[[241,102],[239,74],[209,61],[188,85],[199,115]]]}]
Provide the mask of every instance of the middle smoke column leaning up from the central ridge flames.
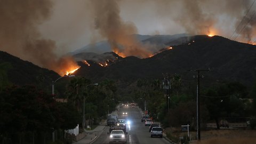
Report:
[{"label": "middle smoke column leaning up from the central ridge flames", "polygon": [[91,1],[95,15],[95,29],[106,37],[117,54],[126,57],[134,55],[148,58],[152,54],[134,37],[137,28],[131,22],[124,22],[120,17],[118,1]]}]

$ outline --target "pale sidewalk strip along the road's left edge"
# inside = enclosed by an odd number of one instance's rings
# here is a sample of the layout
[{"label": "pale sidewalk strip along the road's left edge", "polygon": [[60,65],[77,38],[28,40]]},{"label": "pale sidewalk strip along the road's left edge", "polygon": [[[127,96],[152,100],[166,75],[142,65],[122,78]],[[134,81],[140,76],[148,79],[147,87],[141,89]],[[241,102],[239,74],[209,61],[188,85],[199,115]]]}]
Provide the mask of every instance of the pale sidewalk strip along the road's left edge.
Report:
[{"label": "pale sidewalk strip along the road's left edge", "polygon": [[101,135],[101,133],[105,130],[105,127],[106,127],[106,125],[98,125],[93,130],[84,130],[86,133],[86,136],[83,139],[81,139],[77,142],[74,142],[74,144],[92,143],[94,140],[96,140]]}]

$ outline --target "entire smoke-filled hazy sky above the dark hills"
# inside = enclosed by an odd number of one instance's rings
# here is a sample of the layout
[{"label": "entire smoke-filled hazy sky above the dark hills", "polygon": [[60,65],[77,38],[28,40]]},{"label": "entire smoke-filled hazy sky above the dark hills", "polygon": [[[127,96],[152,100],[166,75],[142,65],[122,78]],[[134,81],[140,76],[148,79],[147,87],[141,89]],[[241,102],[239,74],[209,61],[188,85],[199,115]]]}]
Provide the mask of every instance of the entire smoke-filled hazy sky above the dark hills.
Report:
[{"label": "entire smoke-filled hazy sky above the dark hills", "polygon": [[77,68],[66,53],[102,40],[124,57],[150,57],[153,46],[141,44],[132,34],[212,34],[255,44],[254,2],[3,0],[0,50],[63,74],[70,65],[74,65],[70,69]]}]

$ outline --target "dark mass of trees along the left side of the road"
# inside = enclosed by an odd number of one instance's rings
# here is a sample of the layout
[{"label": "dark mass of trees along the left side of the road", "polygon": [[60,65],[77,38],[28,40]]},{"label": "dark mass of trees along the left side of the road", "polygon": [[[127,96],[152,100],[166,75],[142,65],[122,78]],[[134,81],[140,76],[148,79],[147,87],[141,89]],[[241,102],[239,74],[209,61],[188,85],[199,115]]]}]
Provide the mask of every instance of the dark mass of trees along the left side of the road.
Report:
[{"label": "dark mass of trees along the left side of the road", "polygon": [[[119,101],[116,86],[105,80],[92,85],[90,79],[76,77],[65,87],[66,102],[58,102],[57,95],[35,86],[5,86],[0,91],[0,141],[9,143],[71,143],[72,135],[65,130],[74,129],[77,124],[95,128],[108,110],[115,110]],[[103,109],[102,109],[103,108]],[[55,142],[52,132],[55,131]]]}]

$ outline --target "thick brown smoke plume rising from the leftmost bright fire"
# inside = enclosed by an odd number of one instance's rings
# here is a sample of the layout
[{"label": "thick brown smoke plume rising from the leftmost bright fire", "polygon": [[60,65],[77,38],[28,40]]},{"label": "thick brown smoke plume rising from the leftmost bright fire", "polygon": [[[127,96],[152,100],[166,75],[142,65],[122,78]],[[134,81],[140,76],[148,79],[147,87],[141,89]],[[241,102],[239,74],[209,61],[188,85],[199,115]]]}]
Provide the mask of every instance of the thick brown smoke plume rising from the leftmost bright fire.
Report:
[{"label": "thick brown smoke plume rising from the leftmost bright fire", "polygon": [[55,42],[41,38],[37,28],[50,17],[52,7],[49,0],[0,1],[0,50],[65,75],[76,62],[58,58]]}]

